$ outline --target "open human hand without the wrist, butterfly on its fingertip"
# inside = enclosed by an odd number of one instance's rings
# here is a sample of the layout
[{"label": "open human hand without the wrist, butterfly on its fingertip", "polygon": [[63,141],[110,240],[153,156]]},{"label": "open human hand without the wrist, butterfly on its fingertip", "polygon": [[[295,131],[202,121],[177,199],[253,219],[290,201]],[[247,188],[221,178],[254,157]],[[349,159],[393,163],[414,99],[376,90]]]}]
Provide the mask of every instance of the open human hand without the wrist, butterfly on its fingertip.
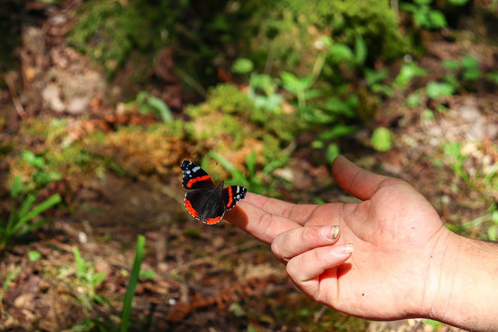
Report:
[{"label": "open human hand without the wrist, butterfly on its fingertip", "polygon": [[344,157],[332,174],[362,202],[294,205],[249,193],[225,218],[271,243],[296,286],[316,301],[374,320],[430,317],[445,248],[457,235],[403,180]]}]

